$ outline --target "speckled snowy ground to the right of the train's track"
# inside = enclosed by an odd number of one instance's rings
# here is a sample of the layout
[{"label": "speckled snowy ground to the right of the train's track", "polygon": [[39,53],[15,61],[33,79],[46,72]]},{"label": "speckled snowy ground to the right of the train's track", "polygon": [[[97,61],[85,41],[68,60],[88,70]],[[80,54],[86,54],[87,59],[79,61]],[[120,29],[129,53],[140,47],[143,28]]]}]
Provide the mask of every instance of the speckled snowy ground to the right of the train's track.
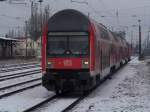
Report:
[{"label": "speckled snowy ground to the right of the train's track", "polygon": [[150,64],[132,60],[72,112],[150,112]]}]

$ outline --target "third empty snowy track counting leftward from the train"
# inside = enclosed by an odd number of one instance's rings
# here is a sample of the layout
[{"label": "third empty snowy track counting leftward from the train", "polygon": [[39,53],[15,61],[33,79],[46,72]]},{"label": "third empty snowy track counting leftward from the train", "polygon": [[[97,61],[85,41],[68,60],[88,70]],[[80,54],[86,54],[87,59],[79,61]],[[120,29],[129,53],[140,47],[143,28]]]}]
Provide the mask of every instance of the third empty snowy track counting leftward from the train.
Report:
[{"label": "third empty snowy track counting leftward from the train", "polygon": [[36,68],[40,67],[40,65],[27,65],[27,66],[18,66],[15,68],[8,68],[8,69],[2,69],[0,68],[0,73],[6,73],[6,72],[11,72],[11,71],[17,71],[17,70],[23,70],[23,69],[30,69],[30,68]]}]

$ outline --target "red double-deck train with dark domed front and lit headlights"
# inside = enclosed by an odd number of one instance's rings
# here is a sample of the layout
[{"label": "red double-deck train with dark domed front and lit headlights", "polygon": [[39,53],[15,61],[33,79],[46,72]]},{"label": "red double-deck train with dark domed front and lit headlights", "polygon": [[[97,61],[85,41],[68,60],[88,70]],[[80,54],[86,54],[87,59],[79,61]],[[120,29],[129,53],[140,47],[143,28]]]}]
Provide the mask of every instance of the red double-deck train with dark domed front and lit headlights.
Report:
[{"label": "red double-deck train with dark domed front and lit headlights", "polygon": [[87,91],[131,56],[125,39],[72,9],[48,20],[42,42],[42,85],[56,93]]}]

